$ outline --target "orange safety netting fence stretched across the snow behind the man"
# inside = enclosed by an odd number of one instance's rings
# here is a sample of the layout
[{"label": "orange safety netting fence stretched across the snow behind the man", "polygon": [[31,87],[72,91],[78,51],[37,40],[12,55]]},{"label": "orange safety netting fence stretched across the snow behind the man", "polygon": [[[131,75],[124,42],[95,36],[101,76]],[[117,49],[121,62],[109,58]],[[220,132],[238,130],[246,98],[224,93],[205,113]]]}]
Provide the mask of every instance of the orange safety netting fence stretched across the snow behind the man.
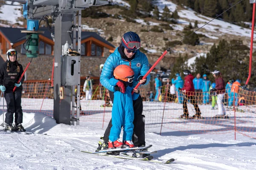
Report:
[{"label": "orange safety netting fence stretched across the snow behind the man", "polygon": [[[25,81],[23,83],[22,108],[27,113],[44,113],[53,116],[53,89],[51,82]],[[85,99],[83,86],[81,86],[81,113],[80,121],[107,123],[111,119],[112,102],[108,90],[101,85],[94,85],[92,97]],[[191,133],[223,134],[238,132],[256,138],[256,93],[239,89],[237,93],[225,93],[223,100],[218,100],[215,92],[196,92],[194,97],[188,97],[182,92],[171,94],[170,86],[161,88],[160,99],[155,100],[155,94],[149,89],[140,88],[143,98],[143,114],[145,127],[168,128]],[[150,98],[150,96],[153,96]],[[67,97],[67,96],[65,96]],[[217,101],[214,102],[214,100]],[[187,112],[192,117],[196,111],[191,102],[196,103],[201,113],[201,119],[180,118],[183,115],[187,101]],[[223,110],[218,110],[218,102],[223,105]],[[219,104],[220,105],[220,104]],[[224,118],[215,117],[225,112]],[[6,112],[6,103],[5,103]],[[70,107],[71,113],[71,107]]]}]

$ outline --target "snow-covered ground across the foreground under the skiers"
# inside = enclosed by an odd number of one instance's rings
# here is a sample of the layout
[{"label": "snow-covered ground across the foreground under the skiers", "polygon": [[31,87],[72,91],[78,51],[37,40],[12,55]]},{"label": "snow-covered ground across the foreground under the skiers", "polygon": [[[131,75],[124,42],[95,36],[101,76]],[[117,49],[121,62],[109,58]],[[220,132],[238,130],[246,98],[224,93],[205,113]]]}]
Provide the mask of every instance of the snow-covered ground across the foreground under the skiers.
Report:
[{"label": "snow-covered ground across the foreground under the skiers", "polygon": [[[23,99],[24,101],[26,99]],[[31,100],[31,99],[30,99]],[[35,100],[34,100],[35,101]],[[36,101],[35,101],[36,102]],[[91,101],[93,102],[93,101]],[[94,101],[95,102],[95,101]],[[38,104],[37,104],[38,105]],[[163,105],[159,102],[144,102],[144,114],[150,120],[150,113],[158,105],[161,112]],[[38,106],[40,108],[41,105]],[[50,109],[44,103],[44,109]],[[166,105],[166,110],[177,112],[181,105]],[[89,105],[82,101],[87,110]],[[96,110],[96,105],[93,110]],[[200,106],[202,110],[207,106]],[[23,104],[23,109],[31,105]],[[191,105],[189,105],[190,113]],[[98,109],[100,107],[98,106]],[[101,108],[102,109],[102,108]],[[0,108],[1,110],[1,108]],[[107,108],[111,110],[111,108]],[[55,120],[42,113],[24,113],[23,126],[31,134],[7,133],[0,130],[0,167],[12,170],[253,170],[256,164],[256,139],[226,131],[224,134],[186,133],[186,124],[198,126],[198,122],[172,118],[174,122],[183,122],[180,130],[160,126],[146,128],[146,143],[153,144],[149,150],[157,150],[153,154],[155,161],[177,159],[172,164],[158,164],[140,160],[125,160],[107,156],[81,153],[79,150],[94,151],[100,136],[108,122],[93,122],[93,117],[81,116],[79,126],[56,124]],[[169,117],[172,117],[169,116]],[[159,118],[160,119],[160,118]],[[3,114],[0,113],[0,120]],[[88,121],[92,120],[92,121]],[[166,117],[167,120],[167,117]],[[165,120],[165,121],[166,121]],[[251,118],[254,121],[253,118]],[[177,128],[175,124],[174,129]],[[150,127],[148,124],[146,127]],[[209,125],[208,128],[216,128]],[[205,126],[201,127],[204,130]],[[122,136],[122,135],[121,135]]]}]

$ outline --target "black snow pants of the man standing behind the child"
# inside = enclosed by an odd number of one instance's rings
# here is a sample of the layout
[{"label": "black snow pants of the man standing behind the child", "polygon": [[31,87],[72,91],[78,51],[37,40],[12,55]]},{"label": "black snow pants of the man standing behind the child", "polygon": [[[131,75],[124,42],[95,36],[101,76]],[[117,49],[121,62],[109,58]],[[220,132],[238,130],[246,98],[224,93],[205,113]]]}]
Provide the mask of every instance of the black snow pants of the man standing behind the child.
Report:
[{"label": "black snow pants of the man standing behind the child", "polygon": [[[109,96],[111,101],[114,101],[114,93],[109,91]],[[134,106],[134,133],[132,136],[132,141],[135,147],[140,147],[145,145],[145,116],[143,112],[143,102],[142,97],[139,96],[137,100],[133,101]],[[103,140],[108,142],[108,136],[112,127],[112,119],[110,120],[108,127],[104,133]]]}]

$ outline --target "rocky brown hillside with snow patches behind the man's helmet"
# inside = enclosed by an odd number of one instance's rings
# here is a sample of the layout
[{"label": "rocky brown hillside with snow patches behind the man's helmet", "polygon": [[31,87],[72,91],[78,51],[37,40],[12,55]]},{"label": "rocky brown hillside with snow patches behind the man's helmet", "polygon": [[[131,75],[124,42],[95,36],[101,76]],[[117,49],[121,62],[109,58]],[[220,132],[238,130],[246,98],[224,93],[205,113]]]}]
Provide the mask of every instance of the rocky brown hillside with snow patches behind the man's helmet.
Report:
[{"label": "rocky brown hillside with snow patches behind the man's helmet", "polygon": [[[212,20],[182,4],[177,5],[172,0],[108,1],[108,6],[91,7],[82,11],[83,30],[97,31],[115,46],[119,45],[125,32],[137,32],[142,40],[141,51],[149,57],[159,57],[167,48]],[[213,20],[196,33],[173,47],[166,57],[170,59],[179,54],[187,54],[191,58],[205,54],[214,43],[218,44],[222,39],[242,40],[244,45],[250,45],[249,28],[222,20]],[[161,63],[166,69],[172,65],[168,59]]]}]

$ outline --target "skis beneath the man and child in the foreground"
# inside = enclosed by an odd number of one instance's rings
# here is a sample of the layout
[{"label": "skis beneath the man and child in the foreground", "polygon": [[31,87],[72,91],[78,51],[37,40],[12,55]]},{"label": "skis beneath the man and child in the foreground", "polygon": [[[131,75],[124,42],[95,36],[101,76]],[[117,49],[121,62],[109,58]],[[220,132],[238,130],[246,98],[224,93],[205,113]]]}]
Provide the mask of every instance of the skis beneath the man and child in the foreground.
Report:
[{"label": "skis beneath the man and child in the foreground", "polygon": [[[89,152],[89,151],[82,151],[84,153],[92,153],[92,154],[96,154],[96,155],[101,155],[101,156],[111,156],[114,158],[120,158],[120,159],[135,159],[135,160],[141,160],[141,161],[151,161],[151,162],[156,162],[156,163],[160,163],[160,164],[169,164],[173,161],[175,161],[175,159],[169,159],[165,162],[159,162],[159,161],[154,161],[152,160],[154,157],[151,156],[150,154],[153,153],[157,153],[157,150],[152,151],[152,152],[148,152],[148,151],[141,151],[141,150],[146,150],[148,148],[152,147],[152,145],[148,145],[145,147],[131,147],[131,148],[115,148],[115,149],[107,149],[107,150],[100,150],[99,152]],[[121,155],[112,155],[112,154],[108,154],[108,153],[121,153]],[[145,156],[144,158],[138,158],[138,157],[134,157],[134,156],[130,156],[128,155],[128,153],[138,153],[140,155],[143,154],[148,154],[148,156]]]}]

